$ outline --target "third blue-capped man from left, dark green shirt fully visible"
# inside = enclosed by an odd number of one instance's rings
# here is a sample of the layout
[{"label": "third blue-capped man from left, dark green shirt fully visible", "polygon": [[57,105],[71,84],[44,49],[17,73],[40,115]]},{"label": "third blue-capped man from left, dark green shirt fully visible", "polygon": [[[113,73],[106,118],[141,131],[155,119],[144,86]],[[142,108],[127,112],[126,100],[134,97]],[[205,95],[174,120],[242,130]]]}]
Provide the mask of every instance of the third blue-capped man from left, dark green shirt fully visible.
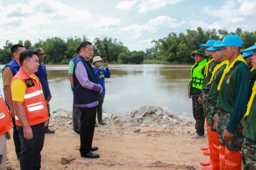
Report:
[{"label": "third blue-capped man from left, dark green shirt fully visible", "polygon": [[243,115],[249,96],[250,69],[240,55],[243,40],[237,35],[226,35],[221,44],[223,60],[228,60],[218,85],[216,130],[225,148],[224,170],[241,170],[241,145],[243,142]]}]

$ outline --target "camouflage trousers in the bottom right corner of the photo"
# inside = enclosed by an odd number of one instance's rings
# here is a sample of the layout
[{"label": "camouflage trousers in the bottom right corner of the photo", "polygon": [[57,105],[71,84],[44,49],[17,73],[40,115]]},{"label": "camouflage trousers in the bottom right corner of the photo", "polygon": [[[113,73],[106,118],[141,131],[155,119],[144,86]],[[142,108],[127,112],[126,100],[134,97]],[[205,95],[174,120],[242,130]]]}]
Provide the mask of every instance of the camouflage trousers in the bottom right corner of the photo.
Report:
[{"label": "camouflage trousers in the bottom right corner of the photo", "polygon": [[242,145],[242,160],[244,170],[256,170],[256,143],[245,138]]}]

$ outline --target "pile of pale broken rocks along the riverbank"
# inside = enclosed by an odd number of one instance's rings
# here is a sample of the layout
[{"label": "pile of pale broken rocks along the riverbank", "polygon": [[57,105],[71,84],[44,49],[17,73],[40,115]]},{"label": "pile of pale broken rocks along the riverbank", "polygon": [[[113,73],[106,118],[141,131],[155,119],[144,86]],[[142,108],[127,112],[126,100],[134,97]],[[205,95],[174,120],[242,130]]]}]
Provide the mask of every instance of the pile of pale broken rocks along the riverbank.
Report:
[{"label": "pile of pale broken rocks along the riverbank", "polygon": [[[53,112],[51,118],[52,121],[57,120],[56,117],[62,118],[58,119],[58,125],[67,124],[71,125],[70,118],[72,118],[72,112],[67,112],[63,109],[58,109]],[[69,118],[66,122],[63,118]],[[118,113],[106,113],[103,111],[102,120],[110,126],[115,124],[117,126],[122,126],[124,123],[130,122],[133,126],[148,126],[153,122],[158,124],[178,124],[179,126],[186,126],[189,124],[195,124],[195,119],[192,113],[183,112],[182,115],[174,115],[174,113],[168,107],[152,106],[152,105],[141,105],[135,106],[134,110],[126,111],[121,110]],[[55,121],[56,122],[56,121]]]}]

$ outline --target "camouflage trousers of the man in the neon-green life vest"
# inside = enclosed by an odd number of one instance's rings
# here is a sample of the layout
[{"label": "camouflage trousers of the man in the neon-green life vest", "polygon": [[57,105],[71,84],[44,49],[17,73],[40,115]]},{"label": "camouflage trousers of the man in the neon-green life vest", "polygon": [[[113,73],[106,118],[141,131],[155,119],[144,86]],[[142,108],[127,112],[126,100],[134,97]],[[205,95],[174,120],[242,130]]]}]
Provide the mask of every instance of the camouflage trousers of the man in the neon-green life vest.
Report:
[{"label": "camouflage trousers of the man in the neon-green life vest", "polygon": [[204,135],[204,110],[202,104],[199,104],[198,98],[200,95],[200,91],[197,88],[191,87],[191,96],[192,98],[192,105],[193,105],[193,116],[195,118],[196,124],[196,132],[198,135]]}]

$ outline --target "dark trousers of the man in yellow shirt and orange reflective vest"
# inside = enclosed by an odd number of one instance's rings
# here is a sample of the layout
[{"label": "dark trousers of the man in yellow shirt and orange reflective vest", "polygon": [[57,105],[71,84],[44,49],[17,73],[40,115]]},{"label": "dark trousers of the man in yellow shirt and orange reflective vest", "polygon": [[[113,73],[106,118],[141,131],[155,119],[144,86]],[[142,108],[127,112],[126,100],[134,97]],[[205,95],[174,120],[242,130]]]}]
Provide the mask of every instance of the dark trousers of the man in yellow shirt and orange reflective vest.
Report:
[{"label": "dark trousers of the man in yellow shirt and orange reflective vest", "polygon": [[20,170],[40,170],[41,150],[45,140],[45,123],[35,124],[32,128],[33,137],[30,140],[24,138],[23,127],[17,126],[19,131],[21,153]]}]

